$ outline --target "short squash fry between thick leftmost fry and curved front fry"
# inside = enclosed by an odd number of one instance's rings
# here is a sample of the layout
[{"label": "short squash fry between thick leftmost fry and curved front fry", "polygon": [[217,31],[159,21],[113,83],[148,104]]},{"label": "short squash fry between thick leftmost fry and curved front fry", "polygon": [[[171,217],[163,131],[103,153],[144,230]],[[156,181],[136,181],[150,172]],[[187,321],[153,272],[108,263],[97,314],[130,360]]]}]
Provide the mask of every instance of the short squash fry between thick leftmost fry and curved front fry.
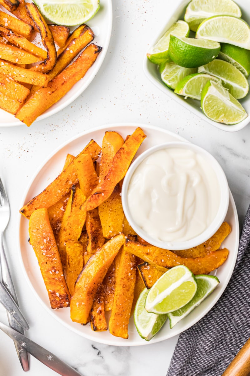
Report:
[{"label": "short squash fry between thick leftmost fry and curved front fry", "polygon": [[66,282],[73,295],[75,282],[83,268],[83,247],[79,241],[68,240],[66,246]]}]

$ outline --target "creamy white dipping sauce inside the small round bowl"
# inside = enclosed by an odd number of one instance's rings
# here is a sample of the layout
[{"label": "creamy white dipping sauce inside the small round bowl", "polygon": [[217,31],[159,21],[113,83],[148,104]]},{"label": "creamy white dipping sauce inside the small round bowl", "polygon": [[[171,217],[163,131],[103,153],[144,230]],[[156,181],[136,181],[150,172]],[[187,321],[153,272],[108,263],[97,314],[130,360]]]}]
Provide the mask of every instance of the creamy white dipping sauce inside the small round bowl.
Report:
[{"label": "creamy white dipping sauce inside the small round bowl", "polygon": [[162,241],[186,241],[212,223],[220,187],[210,163],[178,147],[153,152],[136,168],[127,203],[135,223]]}]

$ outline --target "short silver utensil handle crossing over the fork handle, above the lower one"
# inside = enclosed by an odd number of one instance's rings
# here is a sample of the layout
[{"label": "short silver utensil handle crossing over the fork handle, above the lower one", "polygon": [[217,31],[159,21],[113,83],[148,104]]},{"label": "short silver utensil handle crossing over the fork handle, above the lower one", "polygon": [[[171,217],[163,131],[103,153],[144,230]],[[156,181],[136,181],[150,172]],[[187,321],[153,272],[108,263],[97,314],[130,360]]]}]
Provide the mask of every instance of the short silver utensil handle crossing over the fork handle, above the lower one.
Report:
[{"label": "short silver utensil handle crossing over the fork handle, above the lower one", "polygon": [[2,282],[0,281],[0,303],[7,309],[7,312],[12,315],[15,320],[24,328],[28,329],[28,323],[20,311],[18,305],[16,305],[15,300],[9,294],[9,291],[6,290]]}]

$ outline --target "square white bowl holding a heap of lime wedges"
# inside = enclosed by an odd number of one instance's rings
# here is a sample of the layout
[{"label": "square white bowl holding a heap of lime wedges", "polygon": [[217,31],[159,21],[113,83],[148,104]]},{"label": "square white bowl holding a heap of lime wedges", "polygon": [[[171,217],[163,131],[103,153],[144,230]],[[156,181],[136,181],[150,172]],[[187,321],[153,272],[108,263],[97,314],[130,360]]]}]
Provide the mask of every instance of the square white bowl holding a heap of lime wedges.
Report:
[{"label": "square white bowl holding a heap of lime wedges", "polygon": [[[190,0],[176,0],[175,11],[171,15],[169,15],[169,17],[166,19],[166,23],[164,27],[159,28],[159,33],[157,33],[157,35],[154,37],[147,51],[150,49],[150,47],[156,44],[156,42],[171,27],[173,23],[175,23],[178,20],[184,20],[186,6],[188,5],[189,2]],[[243,20],[245,20],[250,25],[249,0],[237,0],[236,3],[241,8]],[[143,61],[143,70],[144,70],[145,75],[152,83],[154,83],[154,85],[157,86],[157,88],[165,92],[165,94],[167,94],[170,98],[174,99],[176,102],[180,103],[180,105],[192,111],[194,114],[196,114],[203,120],[207,121],[207,123],[210,123],[219,129],[225,130],[226,132],[236,132],[246,127],[246,125],[250,122],[250,90],[247,96],[240,100],[240,103],[243,105],[244,109],[246,110],[248,114],[246,119],[244,119],[243,121],[235,125],[225,125],[222,123],[216,123],[216,121],[210,120],[204,115],[204,113],[201,110],[200,101],[191,99],[191,98],[184,99],[183,96],[179,96],[178,94],[175,94],[173,90],[169,89],[162,82],[157,65],[151,63],[147,58],[147,55],[146,55],[147,51],[145,52],[145,58]],[[249,76],[248,82],[250,83],[250,76]]]}]

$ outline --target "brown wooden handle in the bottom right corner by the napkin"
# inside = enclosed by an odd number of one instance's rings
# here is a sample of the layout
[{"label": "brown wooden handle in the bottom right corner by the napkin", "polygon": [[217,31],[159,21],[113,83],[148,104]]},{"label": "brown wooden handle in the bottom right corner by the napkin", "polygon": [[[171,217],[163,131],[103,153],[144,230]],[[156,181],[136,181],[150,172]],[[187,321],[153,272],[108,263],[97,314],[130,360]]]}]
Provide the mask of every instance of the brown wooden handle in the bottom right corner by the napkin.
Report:
[{"label": "brown wooden handle in the bottom right corner by the napkin", "polygon": [[240,349],[222,376],[250,376],[250,338]]}]

